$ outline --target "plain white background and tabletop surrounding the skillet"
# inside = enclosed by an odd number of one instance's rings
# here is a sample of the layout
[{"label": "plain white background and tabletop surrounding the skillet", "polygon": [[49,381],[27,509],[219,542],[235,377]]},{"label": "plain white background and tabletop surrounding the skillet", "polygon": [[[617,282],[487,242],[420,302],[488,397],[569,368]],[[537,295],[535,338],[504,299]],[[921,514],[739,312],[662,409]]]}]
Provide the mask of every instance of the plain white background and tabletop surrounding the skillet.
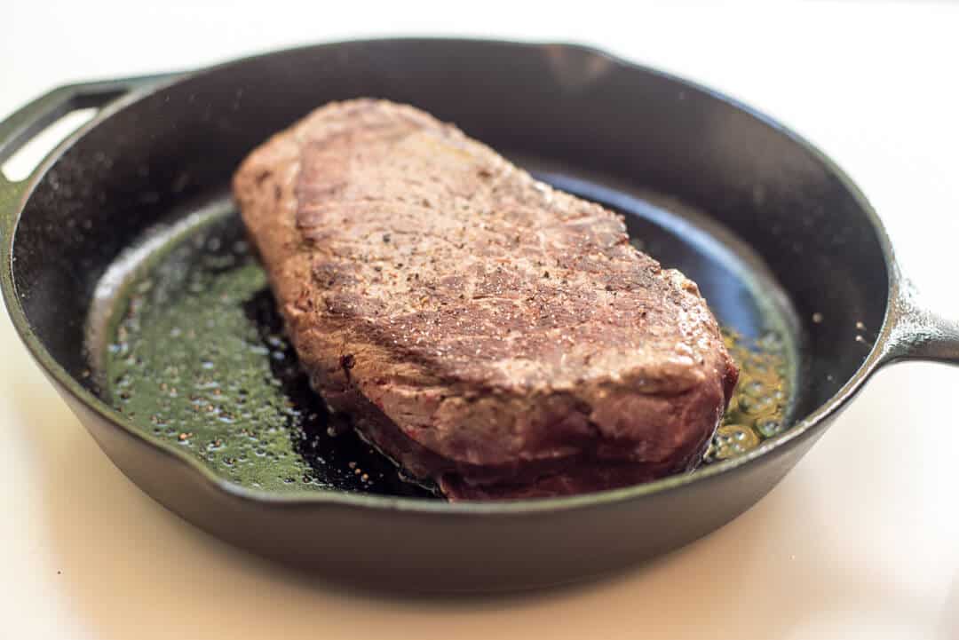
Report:
[{"label": "plain white background and tabletop surrounding the skillet", "polygon": [[[807,136],[959,318],[959,5],[560,4],[6,0],[0,115],[69,80],[325,39],[592,43]],[[667,558],[561,591],[436,600],[305,581],[199,533],[112,467],[5,314],[0,348],[2,638],[959,638],[959,369],[880,373],[778,489]]]}]

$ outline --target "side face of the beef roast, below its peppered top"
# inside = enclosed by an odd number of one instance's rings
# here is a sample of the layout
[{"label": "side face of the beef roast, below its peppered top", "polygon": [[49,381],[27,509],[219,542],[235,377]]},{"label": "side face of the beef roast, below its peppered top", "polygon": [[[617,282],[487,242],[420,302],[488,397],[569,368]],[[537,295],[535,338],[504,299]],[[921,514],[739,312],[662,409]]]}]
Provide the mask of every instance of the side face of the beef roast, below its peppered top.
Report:
[{"label": "side face of the beef roast, below its peppered top", "polygon": [[[703,379],[679,394],[643,393],[623,388],[621,383],[610,393],[609,388],[603,388],[610,386],[605,379],[586,380],[573,390],[548,388],[529,394],[433,379],[433,372],[422,366],[396,363],[396,355],[382,345],[372,341],[359,344],[360,336],[351,332],[346,322],[330,316],[324,318],[321,330],[317,328],[316,309],[303,306],[296,285],[311,278],[310,257],[302,251],[295,226],[295,184],[302,145],[297,131],[308,126],[311,117],[254,150],[234,177],[234,193],[253,244],[268,267],[271,286],[301,364],[315,390],[333,410],[351,416],[369,440],[388,443],[390,457],[413,475],[439,478],[441,487],[453,499],[557,494],[570,492],[563,488],[577,483],[595,489],[612,488],[695,466],[736,383],[737,370],[724,350],[711,352],[718,361],[704,363],[706,370],[714,370],[718,376]],[[278,214],[276,207],[288,211]],[[691,290],[682,288],[701,302],[694,285]],[[337,333],[343,345],[349,336],[351,353],[341,349],[339,358],[316,356],[329,354]],[[717,328],[715,333],[718,335]],[[334,359],[337,361],[331,361]],[[375,371],[365,370],[385,363],[387,368],[406,369],[405,375],[393,379],[413,383],[378,383],[377,379],[390,378],[388,372],[377,376]],[[417,402],[417,407],[422,407],[427,398],[427,404],[434,406],[431,419],[419,424],[391,420],[383,410],[385,400],[395,406],[395,400],[404,395]],[[443,413],[441,419],[436,419],[438,411]],[[520,415],[527,420],[524,428],[515,424]],[[622,417],[635,416],[658,420],[628,420],[623,424]],[[493,438],[497,442],[491,445],[488,421],[502,422],[502,417],[512,417],[514,423],[512,428],[501,424],[502,438]],[[470,424],[478,419],[486,421],[484,428],[471,430]],[[429,429],[447,430],[436,435],[446,445],[437,447],[443,450],[429,446]],[[471,437],[471,431],[475,437]]]}]

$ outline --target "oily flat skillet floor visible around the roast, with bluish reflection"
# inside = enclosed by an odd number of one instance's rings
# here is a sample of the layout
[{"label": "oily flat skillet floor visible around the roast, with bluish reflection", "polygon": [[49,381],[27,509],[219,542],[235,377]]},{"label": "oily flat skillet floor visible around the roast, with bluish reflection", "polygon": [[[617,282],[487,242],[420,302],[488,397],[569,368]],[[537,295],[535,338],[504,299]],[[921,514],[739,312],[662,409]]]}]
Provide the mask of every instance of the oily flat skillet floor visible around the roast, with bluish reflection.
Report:
[{"label": "oily flat skillet floor visible around the roast, with bluish reflection", "polygon": [[[728,416],[736,426],[716,440],[708,463],[790,424],[795,321],[748,245],[674,199],[543,160],[518,162],[619,211],[634,243],[700,283],[739,344],[763,345],[759,377],[753,355],[734,349],[744,379],[739,408]],[[148,229],[110,265],[94,300],[88,379],[142,433],[257,490],[434,497],[431,488],[404,482],[311,391],[228,193],[184,203]]]}]

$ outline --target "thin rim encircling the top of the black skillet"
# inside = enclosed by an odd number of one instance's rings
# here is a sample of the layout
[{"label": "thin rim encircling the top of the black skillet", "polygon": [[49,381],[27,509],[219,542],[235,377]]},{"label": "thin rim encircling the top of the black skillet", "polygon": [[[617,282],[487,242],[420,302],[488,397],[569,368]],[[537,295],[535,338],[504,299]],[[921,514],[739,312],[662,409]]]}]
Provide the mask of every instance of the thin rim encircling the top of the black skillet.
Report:
[{"label": "thin rim encircling the top of the black skillet", "polygon": [[[726,460],[720,463],[714,463],[706,468],[697,469],[687,474],[677,474],[661,478],[648,483],[623,487],[620,489],[596,491],[572,496],[521,499],[511,501],[489,501],[489,502],[444,502],[439,500],[426,500],[421,498],[383,496],[366,493],[352,493],[347,491],[290,491],[284,493],[273,493],[269,491],[260,491],[249,489],[234,484],[222,476],[217,475],[212,469],[202,465],[198,460],[189,456],[186,452],[176,448],[174,445],[152,439],[148,434],[129,423],[129,420],[118,411],[110,407],[95,396],[92,392],[83,387],[79,381],[71,376],[57,361],[52,354],[47,351],[46,346],[30,327],[29,319],[25,310],[20,305],[19,296],[16,294],[14,285],[14,265],[12,261],[12,251],[14,239],[16,237],[16,227],[18,226],[20,215],[23,212],[36,186],[43,179],[44,175],[58,162],[63,153],[76,144],[90,130],[99,126],[106,119],[122,111],[133,103],[137,103],[160,91],[184,80],[197,78],[199,76],[217,72],[221,69],[234,65],[241,65],[246,62],[278,56],[288,53],[301,52],[306,50],[318,49],[336,49],[344,45],[363,46],[395,44],[395,45],[416,45],[424,43],[447,43],[450,45],[462,44],[481,44],[491,47],[519,47],[529,50],[542,50],[545,48],[562,49],[574,51],[579,54],[599,57],[609,64],[619,66],[630,71],[638,71],[645,75],[654,76],[663,80],[669,80],[683,86],[687,90],[700,92],[733,106],[737,110],[744,112],[756,120],[759,120],[766,126],[770,126],[783,134],[792,143],[799,145],[807,151],[815,160],[820,162],[827,171],[834,176],[854,199],[855,204],[862,210],[866,219],[869,221],[873,231],[876,233],[877,240],[882,252],[883,262],[886,268],[888,282],[888,295],[886,299],[886,310],[883,317],[882,327],[878,332],[877,340],[874,342],[870,353],[866,356],[862,365],[840,387],[840,389],[826,402],[817,407],[805,418],[794,423],[784,433],[774,436],[764,441],[760,446],[743,454],[737,458]],[[339,507],[354,508],[361,510],[397,512],[409,514],[430,514],[434,516],[521,516],[527,514],[544,514],[553,512],[566,512],[590,507],[611,506],[619,503],[630,502],[642,499],[643,497],[666,493],[667,491],[680,491],[684,488],[706,482],[716,476],[724,476],[734,472],[737,469],[748,468],[754,461],[771,454],[773,451],[796,446],[799,443],[814,437],[822,431],[828,424],[830,417],[836,415],[848,401],[852,400],[854,395],[866,380],[872,376],[878,366],[883,361],[885,347],[888,343],[891,333],[891,317],[894,308],[893,302],[901,288],[901,276],[899,267],[896,263],[895,253],[892,243],[888,237],[885,226],[875,209],[869,203],[865,194],[854,184],[853,180],[836,165],[829,156],[820,149],[817,149],[809,143],[804,137],[792,129],[782,125],[770,116],[765,115],[759,110],[742,103],[735,98],[727,96],[719,91],[713,90],[698,82],[687,80],[671,73],[659,69],[633,62],[625,58],[610,54],[594,46],[578,43],[559,43],[542,42],[526,40],[506,40],[492,38],[458,38],[458,37],[386,37],[386,38],[367,38],[338,40],[313,45],[295,46],[280,50],[269,51],[265,53],[254,54],[246,57],[238,57],[227,60],[222,63],[202,67],[198,70],[185,72],[175,75],[175,77],[161,80],[149,87],[144,87],[131,91],[128,95],[110,103],[102,109],[90,122],[79,128],[56,149],[51,151],[42,163],[37,167],[32,176],[25,182],[20,183],[21,194],[19,202],[15,207],[12,220],[8,222],[9,236],[4,242],[3,250],[7,256],[5,264],[0,274],[0,289],[4,301],[7,305],[8,313],[11,316],[12,324],[17,331],[21,341],[25,344],[30,354],[40,364],[44,373],[54,380],[61,390],[68,393],[73,400],[82,403],[83,406],[93,411],[100,419],[105,420],[111,426],[117,428],[121,433],[140,441],[145,446],[151,446],[154,450],[170,456],[176,463],[184,465],[199,476],[199,480],[212,489],[222,491],[231,498],[251,501],[259,504],[269,505],[278,508],[322,508]]]}]

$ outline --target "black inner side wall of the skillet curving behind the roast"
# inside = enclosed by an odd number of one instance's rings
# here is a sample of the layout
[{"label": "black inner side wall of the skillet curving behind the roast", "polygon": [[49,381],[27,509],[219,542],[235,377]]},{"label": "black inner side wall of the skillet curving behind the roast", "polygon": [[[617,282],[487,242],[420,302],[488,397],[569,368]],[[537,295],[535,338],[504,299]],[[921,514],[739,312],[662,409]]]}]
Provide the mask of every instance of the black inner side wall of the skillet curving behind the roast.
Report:
[{"label": "black inner side wall of the skillet curving behind the roast", "polygon": [[869,353],[886,306],[880,242],[814,151],[707,91],[589,50],[420,40],[319,46],[202,72],[68,149],[36,185],[13,240],[17,296],[67,373],[92,384],[84,325],[125,247],[187,203],[222,197],[271,133],[356,96],[423,107],[557,186],[631,214],[646,249],[698,281],[720,320],[750,335],[772,319],[788,333],[794,418],[829,400]]}]

